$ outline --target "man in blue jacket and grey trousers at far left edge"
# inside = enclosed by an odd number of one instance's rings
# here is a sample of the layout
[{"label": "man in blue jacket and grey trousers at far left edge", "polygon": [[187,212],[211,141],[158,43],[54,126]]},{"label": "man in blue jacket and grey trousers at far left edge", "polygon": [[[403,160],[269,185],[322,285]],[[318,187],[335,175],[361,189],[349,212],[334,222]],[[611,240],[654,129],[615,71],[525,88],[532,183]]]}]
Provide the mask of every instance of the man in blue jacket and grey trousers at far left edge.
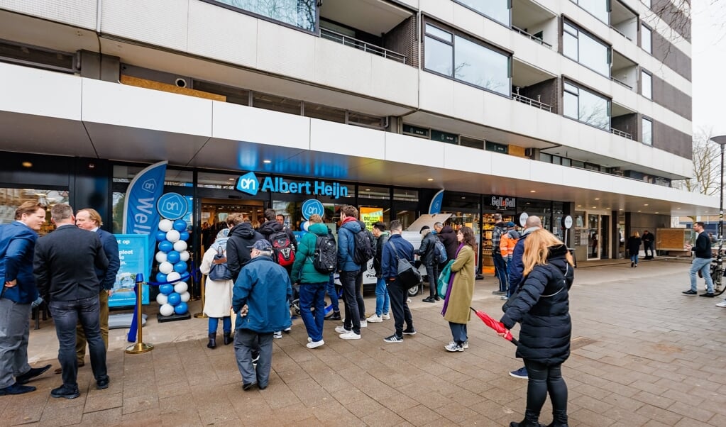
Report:
[{"label": "man in blue jacket and grey trousers at far left edge", "polygon": [[[15,211],[15,221],[0,226],[0,396],[34,391],[23,384],[51,365],[28,365],[30,304],[38,298],[33,277],[33,251],[45,222],[45,208],[28,201]],[[15,378],[14,378],[15,377]]]}]

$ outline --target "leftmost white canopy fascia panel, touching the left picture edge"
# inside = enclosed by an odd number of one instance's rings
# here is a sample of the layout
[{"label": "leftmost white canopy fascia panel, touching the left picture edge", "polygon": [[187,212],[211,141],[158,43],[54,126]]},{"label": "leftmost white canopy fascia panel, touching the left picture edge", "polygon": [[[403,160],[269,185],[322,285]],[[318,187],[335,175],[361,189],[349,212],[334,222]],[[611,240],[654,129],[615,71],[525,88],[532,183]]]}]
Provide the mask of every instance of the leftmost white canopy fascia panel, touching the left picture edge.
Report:
[{"label": "leftmost white canopy fascia panel, touching the left picture edge", "polygon": [[81,119],[81,78],[0,62],[0,81],[0,110]]}]

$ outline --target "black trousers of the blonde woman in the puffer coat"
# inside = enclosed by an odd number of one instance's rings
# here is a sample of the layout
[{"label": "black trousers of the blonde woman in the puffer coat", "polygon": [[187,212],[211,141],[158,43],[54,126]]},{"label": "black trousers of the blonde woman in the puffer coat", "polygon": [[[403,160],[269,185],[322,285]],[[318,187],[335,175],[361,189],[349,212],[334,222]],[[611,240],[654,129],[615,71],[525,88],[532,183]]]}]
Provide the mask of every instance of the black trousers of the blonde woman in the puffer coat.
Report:
[{"label": "black trousers of the blonde woman in the puffer coat", "polygon": [[562,365],[544,365],[524,359],[529,376],[527,382],[527,412],[542,411],[547,393],[552,401],[552,416],[557,425],[567,423],[567,384],[562,378]]}]

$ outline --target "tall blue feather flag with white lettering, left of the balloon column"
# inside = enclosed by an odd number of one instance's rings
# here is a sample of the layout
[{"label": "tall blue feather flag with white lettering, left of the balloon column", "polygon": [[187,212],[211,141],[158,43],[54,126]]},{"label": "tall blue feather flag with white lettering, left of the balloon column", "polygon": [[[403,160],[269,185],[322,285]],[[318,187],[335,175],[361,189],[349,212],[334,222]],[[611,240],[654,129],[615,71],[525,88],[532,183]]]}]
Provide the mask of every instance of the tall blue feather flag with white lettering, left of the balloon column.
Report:
[{"label": "tall blue feather flag with white lettering, left of the balloon column", "polygon": [[[164,192],[164,176],[166,176],[166,160],[145,168],[134,176],[126,190],[123,202],[123,233],[127,235],[151,235],[156,232],[161,216],[156,210],[156,203]],[[154,259],[156,239],[148,240],[148,268]],[[139,271],[137,273],[142,273]]]}]

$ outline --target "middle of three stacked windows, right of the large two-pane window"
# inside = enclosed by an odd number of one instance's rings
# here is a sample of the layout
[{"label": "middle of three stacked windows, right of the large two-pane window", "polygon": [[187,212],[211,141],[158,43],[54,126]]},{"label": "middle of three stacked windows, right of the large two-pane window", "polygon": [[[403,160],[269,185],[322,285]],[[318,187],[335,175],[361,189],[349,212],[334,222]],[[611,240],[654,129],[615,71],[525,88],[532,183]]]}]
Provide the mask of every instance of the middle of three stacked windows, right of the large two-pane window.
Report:
[{"label": "middle of three stacked windows, right of the large two-pane window", "polygon": [[610,46],[570,23],[563,23],[563,54],[603,76],[610,77]]}]

